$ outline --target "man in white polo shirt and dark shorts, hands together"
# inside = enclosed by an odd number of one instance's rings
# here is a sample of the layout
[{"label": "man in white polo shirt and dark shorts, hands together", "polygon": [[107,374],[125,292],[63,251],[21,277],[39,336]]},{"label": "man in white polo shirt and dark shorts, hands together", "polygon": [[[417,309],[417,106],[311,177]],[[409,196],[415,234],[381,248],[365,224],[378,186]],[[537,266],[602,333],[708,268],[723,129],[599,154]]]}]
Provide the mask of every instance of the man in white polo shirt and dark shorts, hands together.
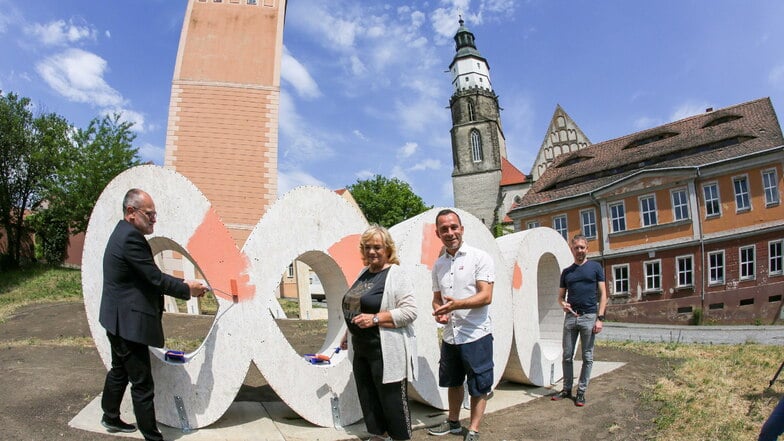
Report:
[{"label": "man in white polo shirt and dark shorts, hands together", "polygon": [[463,243],[463,224],[452,210],[436,216],[436,235],[446,252],[433,268],[433,316],[444,324],[438,385],[448,388],[447,420],[431,435],[460,434],[463,384],[471,396],[471,419],[464,441],[479,440],[479,424],[493,386],[493,300],[495,267],[490,256]]}]

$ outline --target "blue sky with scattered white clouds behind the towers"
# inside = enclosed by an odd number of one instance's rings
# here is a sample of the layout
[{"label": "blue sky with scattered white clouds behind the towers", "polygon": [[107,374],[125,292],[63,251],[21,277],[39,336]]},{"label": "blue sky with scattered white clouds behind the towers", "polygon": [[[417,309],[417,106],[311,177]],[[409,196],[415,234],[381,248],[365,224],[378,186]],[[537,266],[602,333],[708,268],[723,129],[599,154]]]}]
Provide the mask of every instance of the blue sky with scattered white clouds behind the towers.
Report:
[{"label": "blue sky with scattered white clouds behind the towers", "polygon": [[[185,0],[0,0],[0,89],[84,127],[136,123],[161,164]],[[557,104],[594,142],[771,97],[784,112],[779,0],[292,0],[280,192],[373,174],[452,205],[452,36],[490,64],[510,161],[530,173]]]}]

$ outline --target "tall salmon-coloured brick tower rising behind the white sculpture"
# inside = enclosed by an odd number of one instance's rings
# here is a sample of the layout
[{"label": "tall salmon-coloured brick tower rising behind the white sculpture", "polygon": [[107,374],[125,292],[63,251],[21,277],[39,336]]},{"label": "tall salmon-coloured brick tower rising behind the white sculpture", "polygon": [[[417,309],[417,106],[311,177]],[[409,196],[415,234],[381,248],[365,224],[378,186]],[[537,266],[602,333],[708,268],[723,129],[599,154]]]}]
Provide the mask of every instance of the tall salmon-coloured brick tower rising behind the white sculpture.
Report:
[{"label": "tall salmon-coloured brick tower rising behind the white sculpture", "polygon": [[286,0],[188,0],[165,166],[210,199],[242,247],[277,197]]}]

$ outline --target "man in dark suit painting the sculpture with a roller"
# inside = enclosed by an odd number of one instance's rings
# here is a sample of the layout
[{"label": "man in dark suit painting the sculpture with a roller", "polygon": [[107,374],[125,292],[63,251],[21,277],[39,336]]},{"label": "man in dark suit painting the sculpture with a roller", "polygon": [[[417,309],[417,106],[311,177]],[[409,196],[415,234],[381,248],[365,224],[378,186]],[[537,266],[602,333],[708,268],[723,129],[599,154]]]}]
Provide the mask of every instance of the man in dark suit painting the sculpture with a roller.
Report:
[{"label": "man in dark suit painting the sculpture with a roller", "polygon": [[133,432],[120,419],[120,403],[131,383],[136,423],[145,440],[163,440],[155,420],[155,384],[149,346],[163,346],[163,296],[188,300],[207,291],[202,283],[164,274],[153,260],[145,234],[152,234],[155,203],[146,192],[131,189],[123,199],[124,218],[117,223],[103,257],[103,294],[99,321],[112,349],[101,399],[101,424],[110,432]]}]

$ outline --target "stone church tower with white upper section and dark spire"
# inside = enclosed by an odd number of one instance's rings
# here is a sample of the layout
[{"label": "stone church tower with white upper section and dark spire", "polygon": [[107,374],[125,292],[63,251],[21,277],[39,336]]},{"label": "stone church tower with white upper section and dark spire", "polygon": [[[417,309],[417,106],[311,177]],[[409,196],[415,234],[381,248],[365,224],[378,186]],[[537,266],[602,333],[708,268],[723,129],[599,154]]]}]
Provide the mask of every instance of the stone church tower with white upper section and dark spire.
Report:
[{"label": "stone church tower with white upper section and dark spire", "polygon": [[449,107],[455,207],[492,228],[502,221],[498,207],[501,165],[506,159],[498,96],[490,83],[487,60],[476,49],[474,34],[462,18],[454,39],[456,53],[449,65],[454,89]]}]

